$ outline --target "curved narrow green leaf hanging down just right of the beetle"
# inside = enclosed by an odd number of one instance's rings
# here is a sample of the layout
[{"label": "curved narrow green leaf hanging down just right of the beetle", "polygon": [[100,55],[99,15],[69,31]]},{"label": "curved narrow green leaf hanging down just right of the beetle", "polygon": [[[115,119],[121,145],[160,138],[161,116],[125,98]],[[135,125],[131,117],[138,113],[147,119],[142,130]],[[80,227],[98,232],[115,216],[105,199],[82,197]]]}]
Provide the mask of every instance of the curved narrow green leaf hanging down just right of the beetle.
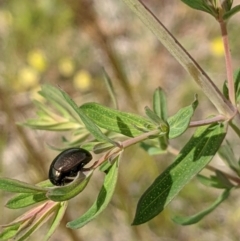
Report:
[{"label": "curved narrow green leaf hanging down just right of the beetle", "polygon": [[90,207],[90,209],[84,213],[78,219],[75,219],[67,223],[67,227],[72,229],[81,228],[88,222],[97,217],[108,205],[115,190],[118,176],[118,159],[114,162],[109,172],[106,174],[103,186],[98,194],[97,200]]}]

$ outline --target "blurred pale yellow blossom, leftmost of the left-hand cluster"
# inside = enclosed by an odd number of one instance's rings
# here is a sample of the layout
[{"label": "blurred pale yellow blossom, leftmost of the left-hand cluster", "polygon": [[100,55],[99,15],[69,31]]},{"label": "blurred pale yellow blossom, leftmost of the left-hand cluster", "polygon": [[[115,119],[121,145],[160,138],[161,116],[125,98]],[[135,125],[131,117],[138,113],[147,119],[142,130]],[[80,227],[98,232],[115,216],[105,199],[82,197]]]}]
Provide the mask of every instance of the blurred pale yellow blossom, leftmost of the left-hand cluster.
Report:
[{"label": "blurred pale yellow blossom, leftmost of the left-hand cluster", "polygon": [[16,90],[25,91],[38,85],[39,74],[32,67],[25,67],[18,71]]}]

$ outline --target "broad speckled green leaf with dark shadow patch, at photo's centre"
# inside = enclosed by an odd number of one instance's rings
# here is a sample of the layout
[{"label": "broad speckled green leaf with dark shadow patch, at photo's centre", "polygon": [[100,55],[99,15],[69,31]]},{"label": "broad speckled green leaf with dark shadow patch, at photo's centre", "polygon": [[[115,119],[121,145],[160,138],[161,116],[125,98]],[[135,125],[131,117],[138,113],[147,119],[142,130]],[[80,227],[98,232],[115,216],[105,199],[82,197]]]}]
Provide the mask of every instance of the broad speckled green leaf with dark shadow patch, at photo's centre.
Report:
[{"label": "broad speckled green leaf with dark shadow patch, at photo's centre", "polygon": [[80,106],[80,109],[99,127],[125,136],[134,137],[142,134],[140,128],[156,129],[156,126],[146,118],[110,109],[97,103],[86,103]]}]

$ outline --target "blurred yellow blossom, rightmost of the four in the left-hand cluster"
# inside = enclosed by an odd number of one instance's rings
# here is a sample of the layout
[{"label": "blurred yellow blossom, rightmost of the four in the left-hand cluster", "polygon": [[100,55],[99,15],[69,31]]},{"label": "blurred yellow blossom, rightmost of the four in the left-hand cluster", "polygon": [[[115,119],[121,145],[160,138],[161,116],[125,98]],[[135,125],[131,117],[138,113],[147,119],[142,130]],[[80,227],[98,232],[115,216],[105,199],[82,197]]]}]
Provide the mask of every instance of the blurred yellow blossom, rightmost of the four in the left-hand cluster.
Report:
[{"label": "blurred yellow blossom, rightmost of the four in the left-hand cluster", "polygon": [[73,79],[73,85],[76,89],[80,89],[82,91],[87,91],[91,86],[91,75],[86,70],[78,71]]}]

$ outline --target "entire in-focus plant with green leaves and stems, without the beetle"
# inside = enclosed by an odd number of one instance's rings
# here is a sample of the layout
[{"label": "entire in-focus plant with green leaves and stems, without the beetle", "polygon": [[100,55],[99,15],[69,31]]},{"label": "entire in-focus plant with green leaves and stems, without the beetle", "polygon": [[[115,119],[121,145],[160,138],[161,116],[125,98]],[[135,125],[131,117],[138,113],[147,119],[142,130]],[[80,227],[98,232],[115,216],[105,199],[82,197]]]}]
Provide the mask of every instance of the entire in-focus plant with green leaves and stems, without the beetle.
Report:
[{"label": "entire in-focus plant with green leaves and stems, without the beetle", "polygon": [[[18,193],[7,202],[6,207],[19,209],[34,204],[38,206],[34,206],[13,222],[2,225],[3,231],[0,234],[0,240],[10,238],[26,240],[44,222],[53,217],[49,232],[45,235],[45,240],[48,240],[59,225],[67,208],[68,200],[77,195],[83,195],[82,191],[98,170],[105,178],[97,199],[82,216],[67,224],[67,227],[71,229],[83,227],[102,213],[111,201],[118,179],[119,165],[125,161],[122,154],[128,147],[141,143],[139,148],[143,147],[149,155],[166,153],[171,150],[170,140],[181,136],[191,127],[198,128],[177,153],[173,163],[170,163],[159,174],[140,197],[132,224],[140,225],[159,215],[195,176],[202,184],[223,189],[223,192],[205,210],[190,217],[176,216],[173,218],[176,223],[181,225],[199,222],[239,186],[239,157],[235,156],[231,143],[226,140],[226,135],[229,128],[232,128],[237,135],[240,133],[240,114],[237,109],[240,99],[240,70],[236,71],[233,78],[228,42],[225,38],[223,39],[228,78],[223,86],[223,93],[221,93],[204,70],[146,6],[138,0],[123,1],[192,76],[216,107],[218,115],[203,118],[200,121],[192,121],[199,104],[197,96],[195,96],[190,105],[179,109],[173,116],[169,116],[167,96],[160,87],[153,93],[152,108],[145,107],[145,117],[95,102],[87,102],[78,106],[65,91],[52,85],[42,85],[39,94],[43,97],[44,102],[34,102],[38,110],[37,118],[29,119],[22,125],[47,131],[71,131],[76,140],[64,139],[65,147],[81,146],[94,154],[101,155],[90,168],[81,169],[74,180],[65,186],[53,186],[48,180],[32,185],[18,180],[1,178],[0,189]],[[212,15],[219,22],[222,33],[227,30],[226,21],[239,11],[239,6],[232,8],[231,0],[223,1],[222,4],[214,0],[182,0],[182,2],[193,9]],[[114,85],[107,73],[104,72],[104,74],[113,105],[117,108]],[[222,145],[224,140],[226,144]],[[235,173],[235,176],[208,166],[217,152]],[[214,175],[210,177],[199,175],[198,173],[204,168],[214,171]]]}]

